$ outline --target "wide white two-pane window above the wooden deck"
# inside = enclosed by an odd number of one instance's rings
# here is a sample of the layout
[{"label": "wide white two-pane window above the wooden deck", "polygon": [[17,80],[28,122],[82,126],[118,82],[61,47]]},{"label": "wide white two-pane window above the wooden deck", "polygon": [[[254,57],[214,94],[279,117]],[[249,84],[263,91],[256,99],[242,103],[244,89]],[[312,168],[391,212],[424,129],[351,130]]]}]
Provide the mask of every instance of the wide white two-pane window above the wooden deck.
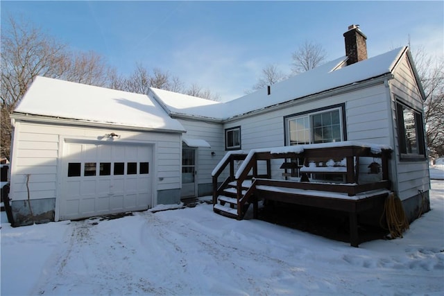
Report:
[{"label": "wide white two-pane window above the wooden deck", "polygon": [[343,141],[341,107],[287,117],[287,145]]}]

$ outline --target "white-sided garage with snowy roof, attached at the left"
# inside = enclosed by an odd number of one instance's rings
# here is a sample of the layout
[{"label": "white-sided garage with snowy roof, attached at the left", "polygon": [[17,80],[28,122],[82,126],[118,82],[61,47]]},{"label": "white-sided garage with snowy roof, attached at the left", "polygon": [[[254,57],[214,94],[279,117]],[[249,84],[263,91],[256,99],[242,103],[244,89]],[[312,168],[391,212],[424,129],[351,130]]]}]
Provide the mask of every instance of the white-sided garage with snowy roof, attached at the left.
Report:
[{"label": "white-sided garage with snowy roof, attached at the left", "polygon": [[37,77],[11,119],[15,226],[180,202],[185,128],[144,94]]}]

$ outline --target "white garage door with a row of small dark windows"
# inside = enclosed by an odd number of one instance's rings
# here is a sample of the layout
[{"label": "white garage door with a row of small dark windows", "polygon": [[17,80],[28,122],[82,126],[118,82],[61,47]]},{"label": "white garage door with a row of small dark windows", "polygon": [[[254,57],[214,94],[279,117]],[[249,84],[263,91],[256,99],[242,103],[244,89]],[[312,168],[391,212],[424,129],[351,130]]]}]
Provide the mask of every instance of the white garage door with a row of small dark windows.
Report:
[{"label": "white garage door with a row of small dark windows", "polygon": [[150,145],[65,143],[63,154],[60,220],[151,205]]}]

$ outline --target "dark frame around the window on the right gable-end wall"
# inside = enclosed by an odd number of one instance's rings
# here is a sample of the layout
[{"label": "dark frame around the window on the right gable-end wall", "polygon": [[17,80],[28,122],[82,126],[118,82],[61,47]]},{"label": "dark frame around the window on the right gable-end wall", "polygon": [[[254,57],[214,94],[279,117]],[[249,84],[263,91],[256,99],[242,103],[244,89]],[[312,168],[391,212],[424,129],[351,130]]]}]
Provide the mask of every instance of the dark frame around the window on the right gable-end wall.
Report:
[{"label": "dark frame around the window on the right gable-end wall", "polygon": [[[400,161],[402,162],[416,162],[427,159],[425,146],[425,129],[424,129],[424,114],[416,110],[414,107],[407,105],[396,98],[396,124],[398,130],[398,150],[400,153]],[[407,150],[406,137],[406,121],[404,119],[404,110],[409,110],[413,113],[414,128],[416,133],[417,152],[412,153]]]}]

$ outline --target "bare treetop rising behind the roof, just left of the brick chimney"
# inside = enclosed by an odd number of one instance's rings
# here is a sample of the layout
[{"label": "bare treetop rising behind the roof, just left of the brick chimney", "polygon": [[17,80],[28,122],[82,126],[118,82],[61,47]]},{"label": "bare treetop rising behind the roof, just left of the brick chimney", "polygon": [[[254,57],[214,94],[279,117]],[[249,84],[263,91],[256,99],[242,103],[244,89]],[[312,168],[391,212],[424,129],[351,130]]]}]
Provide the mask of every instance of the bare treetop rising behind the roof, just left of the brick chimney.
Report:
[{"label": "bare treetop rising behind the roof, just left of the brick chimney", "polygon": [[326,57],[327,53],[321,44],[311,41],[305,41],[293,54],[292,66],[293,73],[302,73],[319,66]]}]

